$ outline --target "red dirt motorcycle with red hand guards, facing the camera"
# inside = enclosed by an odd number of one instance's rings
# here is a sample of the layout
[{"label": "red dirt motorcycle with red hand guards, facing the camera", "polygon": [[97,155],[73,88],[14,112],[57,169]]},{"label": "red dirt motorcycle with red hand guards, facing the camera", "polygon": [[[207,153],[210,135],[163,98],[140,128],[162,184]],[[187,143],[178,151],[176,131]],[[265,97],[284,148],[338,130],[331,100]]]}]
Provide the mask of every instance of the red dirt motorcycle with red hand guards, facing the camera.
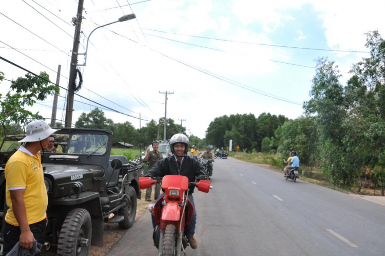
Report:
[{"label": "red dirt motorcycle with red hand guards, facing the camera", "polygon": [[139,187],[147,189],[158,182],[162,184],[164,194],[157,199],[150,211],[155,216],[156,229],[152,238],[158,248],[158,256],[180,256],[188,246],[184,231],[189,227],[194,206],[188,196],[188,185],[195,185],[199,191],[208,193],[213,188],[208,177],[197,177],[198,182],[188,182],[188,178],[179,175],[166,175],[163,179],[139,177]]}]

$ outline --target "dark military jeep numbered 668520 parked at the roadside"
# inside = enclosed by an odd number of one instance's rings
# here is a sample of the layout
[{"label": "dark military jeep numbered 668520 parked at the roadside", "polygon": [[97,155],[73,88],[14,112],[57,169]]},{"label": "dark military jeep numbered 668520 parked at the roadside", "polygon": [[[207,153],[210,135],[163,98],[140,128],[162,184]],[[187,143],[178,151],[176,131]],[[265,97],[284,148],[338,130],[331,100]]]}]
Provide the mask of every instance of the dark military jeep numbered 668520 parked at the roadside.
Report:
[{"label": "dark military jeep numbered 668520 parked at the roadside", "polygon": [[[111,156],[108,130],[65,128],[53,135],[60,153],[41,153],[48,193],[45,248],[57,255],[88,255],[90,245],[103,245],[104,223],[119,223],[123,229],[133,225],[143,164],[139,159]],[[8,209],[5,165],[23,137],[6,136],[0,146],[2,227]]]}]

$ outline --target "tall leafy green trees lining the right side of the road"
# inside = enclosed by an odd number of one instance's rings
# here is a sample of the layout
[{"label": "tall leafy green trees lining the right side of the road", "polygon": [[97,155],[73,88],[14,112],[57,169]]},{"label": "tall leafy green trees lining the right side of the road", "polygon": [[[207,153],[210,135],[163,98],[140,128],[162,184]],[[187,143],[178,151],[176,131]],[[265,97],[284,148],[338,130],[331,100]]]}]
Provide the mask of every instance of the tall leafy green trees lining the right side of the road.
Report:
[{"label": "tall leafy green trees lining the right side of the road", "polygon": [[351,187],[364,166],[385,194],[385,41],[367,33],[370,57],[352,66],[346,85],[338,66],[317,61],[305,116],[284,123],[276,132],[278,151],[297,149],[301,161],[320,164],[336,185]]}]

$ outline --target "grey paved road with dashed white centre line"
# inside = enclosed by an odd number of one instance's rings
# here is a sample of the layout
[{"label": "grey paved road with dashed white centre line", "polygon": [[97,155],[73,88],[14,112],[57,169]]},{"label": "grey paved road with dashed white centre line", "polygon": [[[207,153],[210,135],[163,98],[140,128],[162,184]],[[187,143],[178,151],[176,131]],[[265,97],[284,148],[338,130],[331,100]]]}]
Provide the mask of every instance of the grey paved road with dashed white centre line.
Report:
[{"label": "grey paved road with dashed white centre line", "polygon": [[[194,193],[199,248],[187,255],[385,255],[385,206],[232,158]],[[144,214],[108,255],[156,255]]]}]

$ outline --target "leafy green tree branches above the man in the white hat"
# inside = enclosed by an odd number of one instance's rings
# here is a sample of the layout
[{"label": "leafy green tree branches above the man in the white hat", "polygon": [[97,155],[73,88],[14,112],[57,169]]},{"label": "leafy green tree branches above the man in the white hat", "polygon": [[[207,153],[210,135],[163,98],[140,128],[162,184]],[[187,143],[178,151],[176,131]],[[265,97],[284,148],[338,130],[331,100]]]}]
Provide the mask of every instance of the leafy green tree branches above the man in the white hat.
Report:
[{"label": "leafy green tree branches above the man in the white hat", "polygon": [[[0,81],[4,79],[4,73],[0,72]],[[48,95],[52,95],[58,88],[51,85],[46,72],[41,72],[40,77],[26,74],[12,81],[10,91],[4,98],[0,98],[0,122],[9,124],[27,123],[29,119],[43,119],[37,113],[33,114],[26,106],[33,106],[36,101],[43,101]],[[0,97],[3,95],[0,94]]]}]

